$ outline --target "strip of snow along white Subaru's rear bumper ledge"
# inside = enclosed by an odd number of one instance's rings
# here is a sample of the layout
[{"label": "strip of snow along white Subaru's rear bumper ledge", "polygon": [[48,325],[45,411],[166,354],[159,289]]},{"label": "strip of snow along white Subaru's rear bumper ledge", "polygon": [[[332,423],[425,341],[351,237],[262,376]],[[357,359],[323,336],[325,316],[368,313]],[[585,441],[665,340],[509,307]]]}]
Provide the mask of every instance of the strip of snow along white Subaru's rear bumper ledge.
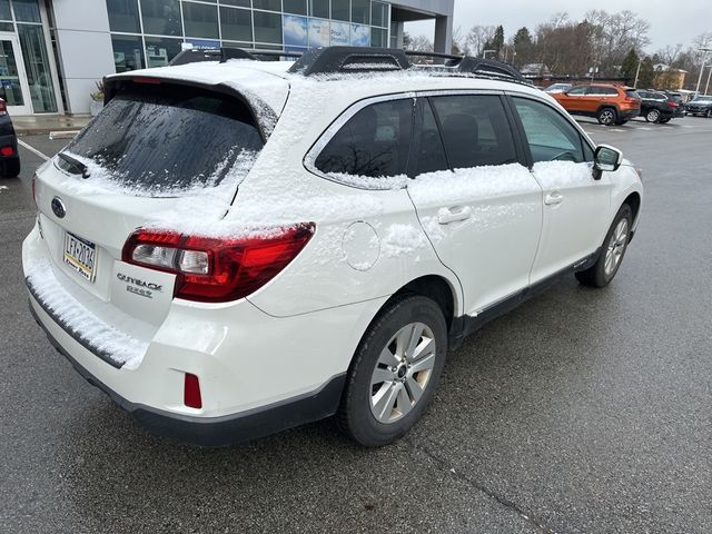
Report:
[{"label": "strip of snow along white Subaru's rear bumper ledge", "polygon": [[[139,366],[148,349],[148,342],[118,330],[87,310],[57,280],[49,261],[30,265],[27,279],[42,307],[49,309],[73,335],[89,344],[92,352],[107,355],[117,364],[123,365],[125,369],[136,369]],[[113,313],[121,314],[119,310]],[[134,319],[127,316],[125,320]]]}]

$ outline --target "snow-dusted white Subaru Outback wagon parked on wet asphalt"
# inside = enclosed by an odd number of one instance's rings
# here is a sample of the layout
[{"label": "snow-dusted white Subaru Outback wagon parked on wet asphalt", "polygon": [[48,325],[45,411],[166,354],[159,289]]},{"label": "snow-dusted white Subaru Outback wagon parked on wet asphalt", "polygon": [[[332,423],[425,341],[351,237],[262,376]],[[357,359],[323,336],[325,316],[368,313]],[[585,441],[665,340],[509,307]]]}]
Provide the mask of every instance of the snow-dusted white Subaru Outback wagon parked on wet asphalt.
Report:
[{"label": "snow-dusted white Subaru Outback wagon parked on wet asphalt", "polygon": [[337,414],[404,435],[447,349],[561,276],[615,276],[643,188],[494,61],[185,52],[106,80],[37,170],[31,309],[91,384],[202,445]]}]

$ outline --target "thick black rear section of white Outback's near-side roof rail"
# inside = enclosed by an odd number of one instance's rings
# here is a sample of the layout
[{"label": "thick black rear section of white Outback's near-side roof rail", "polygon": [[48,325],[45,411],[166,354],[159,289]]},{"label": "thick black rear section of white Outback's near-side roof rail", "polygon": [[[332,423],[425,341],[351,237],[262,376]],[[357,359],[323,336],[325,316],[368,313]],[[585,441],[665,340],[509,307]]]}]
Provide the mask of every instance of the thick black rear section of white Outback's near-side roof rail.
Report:
[{"label": "thick black rear section of white Outback's near-side roof rail", "polygon": [[289,72],[304,76],[337,72],[406,70],[411,62],[404,50],[375,47],[312,48],[291,66]]}]

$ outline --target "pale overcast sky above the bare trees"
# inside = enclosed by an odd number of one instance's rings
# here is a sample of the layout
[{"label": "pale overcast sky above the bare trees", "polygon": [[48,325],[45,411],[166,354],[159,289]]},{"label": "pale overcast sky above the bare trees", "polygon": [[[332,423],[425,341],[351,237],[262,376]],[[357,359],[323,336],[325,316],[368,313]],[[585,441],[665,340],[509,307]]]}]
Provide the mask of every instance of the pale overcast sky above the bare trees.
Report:
[{"label": "pale overcast sky above the bare trees", "polygon": [[[474,1],[455,0],[455,28],[462,27],[466,33],[475,24],[504,26],[504,36],[508,40],[517,29],[526,26],[533,31],[537,24],[548,20],[554,13],[566,11],[572,20],[582,20],[586,11],[603,9],[609,12],[629,9],[651,24],[647,37],[652,53],[666,44],[690,41],[705,31],[712,31],[712,0],[686,0],[665,2],[661,0],[595,0],[572,2],[571,0],[503,0]],[[406,31],[413,36],[423,34],[433,39],[434,23],[412,22]]]}]

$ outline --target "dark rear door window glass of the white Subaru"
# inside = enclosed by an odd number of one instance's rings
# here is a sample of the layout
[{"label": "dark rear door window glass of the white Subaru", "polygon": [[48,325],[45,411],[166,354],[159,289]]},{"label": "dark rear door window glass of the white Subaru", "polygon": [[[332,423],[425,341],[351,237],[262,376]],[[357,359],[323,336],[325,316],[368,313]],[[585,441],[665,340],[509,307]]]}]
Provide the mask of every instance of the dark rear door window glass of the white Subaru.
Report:
[{"label": "dark rear door window glass of the white Subaru", "polygon": [[453,169],[517,161],[514,138],[497,96],[458,95],[431,99]]}]

